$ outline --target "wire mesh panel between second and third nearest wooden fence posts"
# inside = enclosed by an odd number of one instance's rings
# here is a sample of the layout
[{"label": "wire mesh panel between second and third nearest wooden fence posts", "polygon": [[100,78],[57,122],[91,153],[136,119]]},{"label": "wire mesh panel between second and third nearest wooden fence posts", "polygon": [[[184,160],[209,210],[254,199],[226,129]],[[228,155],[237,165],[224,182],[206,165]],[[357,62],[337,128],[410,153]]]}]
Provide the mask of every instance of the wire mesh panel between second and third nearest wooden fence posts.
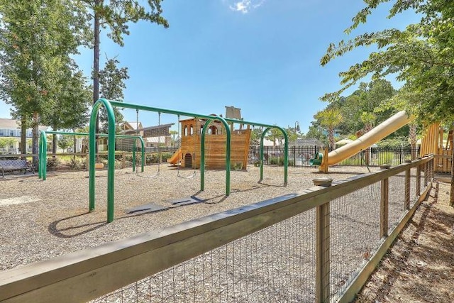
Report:
[{"label": "wire mesh panel between second and third nearest wooden fence posts", "polygon": [[399,224],[405,210],[405,172],[389,177],[388,233]]}]

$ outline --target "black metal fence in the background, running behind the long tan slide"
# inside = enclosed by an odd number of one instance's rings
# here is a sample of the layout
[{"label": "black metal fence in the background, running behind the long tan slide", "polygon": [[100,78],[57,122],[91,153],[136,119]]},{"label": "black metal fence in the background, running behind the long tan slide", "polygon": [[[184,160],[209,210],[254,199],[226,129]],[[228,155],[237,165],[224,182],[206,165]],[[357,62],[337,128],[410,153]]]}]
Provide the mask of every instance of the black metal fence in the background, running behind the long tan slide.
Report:
[{"label": "black metal fence in the background, running behind the long tan slide", "polygon": [[[319,146],[289,146],[289,166],[309,167],[309,160],[314,158],[316,153],[322,153]],[[383,164],[399,165],[405,160],[416,158],[419,155],[419,148],[410,147],[380,148],[372,147],[362,150],[360,153],[339,162],[337,165],[344,166],[379,166]],[[283,146],[265,146],[263,148],[265,165],[284,165]],[[249,164],[260,160],[260,147],[251,146],[249,149]]]}]

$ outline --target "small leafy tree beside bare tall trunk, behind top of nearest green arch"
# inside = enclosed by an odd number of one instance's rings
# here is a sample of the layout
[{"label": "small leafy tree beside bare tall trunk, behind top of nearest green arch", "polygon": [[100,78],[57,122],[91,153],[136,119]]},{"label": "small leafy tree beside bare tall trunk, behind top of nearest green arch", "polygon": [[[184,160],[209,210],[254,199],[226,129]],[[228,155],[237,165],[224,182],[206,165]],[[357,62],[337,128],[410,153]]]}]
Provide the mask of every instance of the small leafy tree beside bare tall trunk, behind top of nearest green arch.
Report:
[{"label": "small leafy tree beside bare tall trunk, behind top of nearest green arch", "polygon": [[[118,69],[117,65],[120,63],[116,58],[108,59],[106,66],[103,70],[99,71],[99,84],[101,84],[101,98],[110,100],[123,101],[123,89],[126,89],[126,84],[123,82],[129,79],[128,67],[121,67]],[[123,115],[120,109],[114,108],[116,128],[123,121]],[[99,114],[99,120],[102,122],[100,131],[107,132],[107,113],[106,109],[102,108]]]}]

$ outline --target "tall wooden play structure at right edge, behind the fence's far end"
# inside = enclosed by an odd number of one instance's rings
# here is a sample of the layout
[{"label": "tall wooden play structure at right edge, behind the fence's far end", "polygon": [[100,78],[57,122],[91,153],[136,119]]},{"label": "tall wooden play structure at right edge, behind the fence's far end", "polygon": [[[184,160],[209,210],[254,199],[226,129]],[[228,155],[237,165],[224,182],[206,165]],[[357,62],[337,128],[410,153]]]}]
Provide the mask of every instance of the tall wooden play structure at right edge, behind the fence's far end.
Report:
[{"label": "tall wooden play structure at right edge, behind the fence's far end", "polygon": [[421,139],[421,157],[423,155],[436,155],[433,169],[436,172],[450,172],[453,156],[453,131],[448,132],[448,138],[443,140],[444,129],[440,123],[433,123],[426,128],[426,133]]}]

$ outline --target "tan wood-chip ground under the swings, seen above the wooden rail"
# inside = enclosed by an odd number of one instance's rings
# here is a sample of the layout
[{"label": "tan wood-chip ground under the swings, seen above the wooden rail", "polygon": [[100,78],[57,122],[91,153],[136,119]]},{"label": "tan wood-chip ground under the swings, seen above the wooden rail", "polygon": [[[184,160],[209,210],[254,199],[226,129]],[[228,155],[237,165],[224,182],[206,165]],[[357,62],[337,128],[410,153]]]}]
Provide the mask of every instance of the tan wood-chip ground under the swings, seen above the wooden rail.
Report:
[{"label": "tan wood-chip ground under the swings, seen above the wooden rail", "polygon": [[[153,174],[156,165],[145,167]],[[379,170],[378,167],[371,167]],[[223,170],[206,173],[206,189],[199,191],[200,174],[185,179],[172,165],[161,165],[157,177],[135,175],[131,168],[115,171],[115,220],[106,223],[106,170],[96,170],[96,209],[88,211],[88,172],[48,173],[1,180],[0,270],[48,260],[84,248],[99,246],[140,233],[172,226],[220,211],[235,209],[313,187],[313,179],[323,177],[314,167],[290,167],[289,182],[283,186],[283,167],[264,167],[265,177],[258,182],[260,168],[248,165],[247,171],[231,172],[231,194],[225,195]],[[366,167],[331,167],[329,177],[343,180],[366,173]],[[181,174],[192,174],[182,170]],[[196,197],[201,202],[172,204],[171,200]],[[145,204],[167,209],[135,212],[129,209]]]}]

